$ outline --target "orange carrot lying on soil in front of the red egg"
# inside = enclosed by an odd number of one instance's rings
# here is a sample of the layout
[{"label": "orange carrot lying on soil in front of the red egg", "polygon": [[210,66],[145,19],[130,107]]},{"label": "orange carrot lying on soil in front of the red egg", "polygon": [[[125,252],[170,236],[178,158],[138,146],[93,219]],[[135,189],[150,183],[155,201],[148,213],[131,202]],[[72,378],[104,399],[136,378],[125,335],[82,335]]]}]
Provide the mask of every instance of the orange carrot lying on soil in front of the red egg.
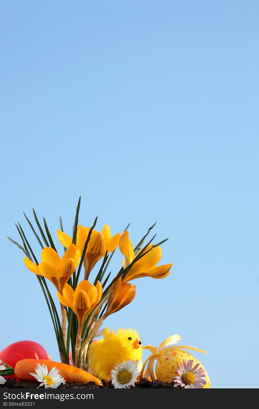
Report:
[{"label": "orange carrot lying on soil in front of the red egg", "polygon": [[14,375],[23,382],[37,382],[34,376],[30,375],[30,372],[35,373],[37,364],[45,364],[49,372],[52,368],[58,369],[60,375],[63,376],[66,383],[95,382],[97,385],[102,385],[98,378],[86,371],[83,371],[83,369],[78,369],[75,368],[75,366],[61,364],[60,362],[55,361],[48,361],[45,359],[23,359],[18,361],[14,369]]}]

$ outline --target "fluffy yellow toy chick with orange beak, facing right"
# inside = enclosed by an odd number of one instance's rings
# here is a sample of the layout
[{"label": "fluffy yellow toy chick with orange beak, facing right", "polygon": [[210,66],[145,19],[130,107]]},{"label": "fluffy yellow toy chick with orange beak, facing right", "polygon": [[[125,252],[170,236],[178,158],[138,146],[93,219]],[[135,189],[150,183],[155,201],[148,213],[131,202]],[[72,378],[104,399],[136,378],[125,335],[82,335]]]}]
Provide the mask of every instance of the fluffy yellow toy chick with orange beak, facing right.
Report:
[{"label": "fluffy yellow toy chick with orange beak, facing right", "polygon": [[142,346],[136,330],[120,328],[116,333],[113,330],[109,333],[109,328],[106,328],[104,338],[93,342],[90,347],[90,370],[101,380],[108,381],[110,371],[128,359],[137,360],[139,370],[142,369]]}]

